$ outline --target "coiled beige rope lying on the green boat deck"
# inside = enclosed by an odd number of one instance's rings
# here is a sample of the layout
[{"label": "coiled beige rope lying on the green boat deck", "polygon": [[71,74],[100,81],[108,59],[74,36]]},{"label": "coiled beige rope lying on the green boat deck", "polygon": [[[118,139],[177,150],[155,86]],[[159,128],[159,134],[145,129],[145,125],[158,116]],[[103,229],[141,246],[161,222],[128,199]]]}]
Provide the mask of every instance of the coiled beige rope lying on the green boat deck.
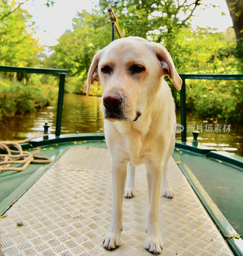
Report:
[{"label": "coiled beige rope lying on the green boat deck", "polygon": [[[3,171],[24,171],[30,163],[33,164],[47,164],[51,162],[51,158],[48,156],[37,156],[40,153],[40,147],[31,153],[23,151],[21,143],[28,142],[38,137],[48,136],[49,133],[39,133],[31,138],[20,141],[0,141],[0,149],[5,150],[7,154],[0,154],[0,172]],[[14,147],[17,150],[10,149]],[[12,153],[14,155],[12,155]],[[22,160],[19,160],[22,159]],[[41,159],[41,160],[37,160]],[[10,167],[11,164],[24,164],[21,167]]]}]

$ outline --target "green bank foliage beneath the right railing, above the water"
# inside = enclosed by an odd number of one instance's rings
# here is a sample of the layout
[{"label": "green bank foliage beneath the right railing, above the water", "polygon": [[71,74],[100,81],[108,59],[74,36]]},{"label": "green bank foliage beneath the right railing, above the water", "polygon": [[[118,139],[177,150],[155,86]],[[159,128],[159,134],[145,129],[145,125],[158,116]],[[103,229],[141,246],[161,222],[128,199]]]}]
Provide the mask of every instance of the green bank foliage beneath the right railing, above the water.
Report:
[{"label": "green bank foliage beneath the right railing, above the water", "polygon": [[240,122],[243,83],[239,80],[186,80],[187,107],[200,116]]}]

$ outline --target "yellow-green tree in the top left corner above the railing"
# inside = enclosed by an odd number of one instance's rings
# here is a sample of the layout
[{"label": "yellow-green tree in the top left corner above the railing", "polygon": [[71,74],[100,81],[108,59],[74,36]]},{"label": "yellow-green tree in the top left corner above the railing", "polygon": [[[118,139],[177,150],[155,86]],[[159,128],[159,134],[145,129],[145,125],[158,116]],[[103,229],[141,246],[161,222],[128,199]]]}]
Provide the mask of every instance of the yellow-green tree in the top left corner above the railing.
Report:
[{"label": "yellow-green tree in the top left corner above the railing", "polygon": [[[0,1],[0,17],[7,15],[16,5],[13,1]],[[0,65],[29,66],[38,64],[38,40],[33,38],[33,22],[27,11],[20,7],[0,19]]]}]

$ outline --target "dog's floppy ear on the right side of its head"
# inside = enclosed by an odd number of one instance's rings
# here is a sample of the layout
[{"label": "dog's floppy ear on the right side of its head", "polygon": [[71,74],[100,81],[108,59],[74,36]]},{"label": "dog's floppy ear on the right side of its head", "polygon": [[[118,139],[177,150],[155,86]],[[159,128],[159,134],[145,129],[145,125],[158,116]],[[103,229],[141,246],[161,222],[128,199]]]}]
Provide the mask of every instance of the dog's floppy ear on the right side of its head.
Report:
[{"label": "dog's floppy ear on the right side of its head", "polygon": [[161,44],[155,44],[154,50],[158,60],[161,63],[161,68],[163,69],[164,74],[168,75],[169,78],[173,80],[176,89],[180,90],[182,80],[175,69],[174,62],[169,52],[166,50],[166,47]]}]

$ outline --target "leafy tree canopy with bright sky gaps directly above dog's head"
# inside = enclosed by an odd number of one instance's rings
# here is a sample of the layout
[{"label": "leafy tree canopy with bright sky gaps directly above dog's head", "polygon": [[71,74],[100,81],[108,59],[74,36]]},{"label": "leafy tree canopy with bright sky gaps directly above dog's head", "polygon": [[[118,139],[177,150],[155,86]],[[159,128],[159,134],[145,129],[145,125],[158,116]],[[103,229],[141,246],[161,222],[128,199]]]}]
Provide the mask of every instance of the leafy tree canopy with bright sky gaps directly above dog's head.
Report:
[{"label": "leafy tree canopy with bright sky gaps directly above dog's head", "polygon": [[126,36],[140,36],[157,43],[172,36],[180,28],[190,27],[190,18],[201,0],[100,0],[99,7],[107,13],[113,7]]}]

